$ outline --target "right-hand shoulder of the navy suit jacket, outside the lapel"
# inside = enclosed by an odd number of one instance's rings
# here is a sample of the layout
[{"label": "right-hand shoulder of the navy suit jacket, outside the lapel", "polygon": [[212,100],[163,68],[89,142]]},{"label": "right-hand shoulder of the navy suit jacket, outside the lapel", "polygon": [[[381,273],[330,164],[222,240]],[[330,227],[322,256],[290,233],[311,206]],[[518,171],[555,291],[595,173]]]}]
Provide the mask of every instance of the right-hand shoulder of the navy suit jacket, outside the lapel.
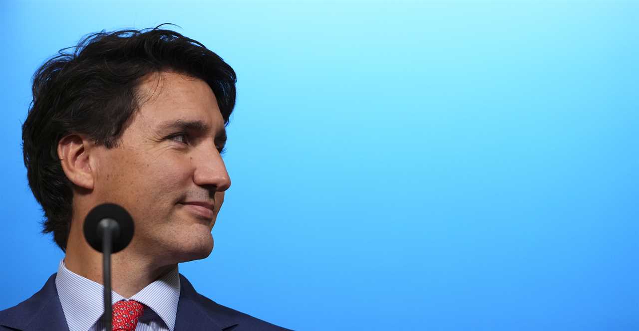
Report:
[{"label": "right-hand shoulder of the navy suit jacket, outside the lapel", "polygon": [[[210,298],[197,293],[189,281],[180,275],[181,291],[180,296],[191,297],[197,305],[206,311],[223,330],[243,331],[243,330],[265,330],[265,331],[286,331],[288,328],[278,327],[267,321],[260,320],[249,314],[236,311],[235,309],[220,305]],[[179,309],[178,309],[179,310]]]}]

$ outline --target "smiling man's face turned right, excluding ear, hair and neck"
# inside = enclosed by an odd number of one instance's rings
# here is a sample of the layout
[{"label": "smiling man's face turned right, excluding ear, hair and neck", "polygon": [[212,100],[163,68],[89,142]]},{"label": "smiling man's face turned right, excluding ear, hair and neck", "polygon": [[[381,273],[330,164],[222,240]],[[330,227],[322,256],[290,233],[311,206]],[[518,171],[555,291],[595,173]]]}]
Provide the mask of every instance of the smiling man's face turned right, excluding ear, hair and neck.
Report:
[{"label": "smiling man's face turned right, excluding ear, hair and neck", "polygon": [[219,152],[226,131],[217,100],[203,80],[178,73],[149,75],[140,91],[148,101],[119,146],[96,149],[93,193],[133,216],[127,250],[167,264],[206,258],[231,186]]}]

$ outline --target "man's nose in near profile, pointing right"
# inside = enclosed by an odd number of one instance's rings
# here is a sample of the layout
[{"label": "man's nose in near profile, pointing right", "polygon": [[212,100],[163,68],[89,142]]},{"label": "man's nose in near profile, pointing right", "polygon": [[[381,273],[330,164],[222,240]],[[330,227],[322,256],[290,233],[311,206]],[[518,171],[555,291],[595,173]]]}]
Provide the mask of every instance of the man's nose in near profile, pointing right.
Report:
[{"label": "man's nose in near profile, pointing right", "polygon": [[213,151],[201,153],[192,159],[195,165],[193,181],[198,186],[213,187],[212,191],[223,192],[231,187],[229,173],[220,153],[213,147]]}]

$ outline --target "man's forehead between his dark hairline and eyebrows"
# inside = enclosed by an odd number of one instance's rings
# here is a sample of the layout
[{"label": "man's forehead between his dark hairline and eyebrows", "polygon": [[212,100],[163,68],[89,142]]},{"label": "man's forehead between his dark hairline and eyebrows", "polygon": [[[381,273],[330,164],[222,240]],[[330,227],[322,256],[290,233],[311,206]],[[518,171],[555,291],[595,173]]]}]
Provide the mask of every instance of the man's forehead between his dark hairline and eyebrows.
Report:
[{"label": "man's forehead between his dark hairline and eyebrows", "polygon": [[176,72],[151,73],[138,87],[139,115],[150,126],[166,121],[201,121],[219,131],[224,119],[206,82]]}]

